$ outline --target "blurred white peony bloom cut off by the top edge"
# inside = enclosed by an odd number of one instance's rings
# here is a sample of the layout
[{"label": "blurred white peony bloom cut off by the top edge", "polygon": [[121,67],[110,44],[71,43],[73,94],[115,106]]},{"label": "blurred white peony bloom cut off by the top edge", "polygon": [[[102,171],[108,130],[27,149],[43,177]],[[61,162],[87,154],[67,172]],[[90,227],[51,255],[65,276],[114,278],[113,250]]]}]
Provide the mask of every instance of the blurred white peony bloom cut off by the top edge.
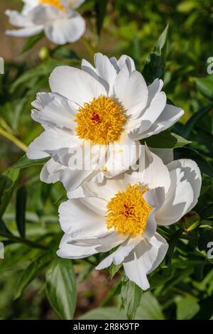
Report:
[{"label": "blurred white peony bloom cut off by the top edge", "polygon": [[73,43],[85,31],[85,21],[75,11],[84,0],[23,0],[21,13],[6,11],[9,21],[18,30],[6,31],[9,36],[28,37],[41,31],[55,44]]}]

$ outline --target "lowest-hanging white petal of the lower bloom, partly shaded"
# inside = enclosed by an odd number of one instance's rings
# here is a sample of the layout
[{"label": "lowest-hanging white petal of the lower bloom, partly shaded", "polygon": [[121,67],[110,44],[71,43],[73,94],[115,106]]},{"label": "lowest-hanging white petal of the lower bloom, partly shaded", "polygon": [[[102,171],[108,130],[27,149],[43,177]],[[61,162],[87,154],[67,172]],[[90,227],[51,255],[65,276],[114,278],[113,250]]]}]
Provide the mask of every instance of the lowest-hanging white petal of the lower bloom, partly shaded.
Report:
[{"label": "lowest-hanging white petal of the lower bloom, partly shaded", "polygon": [[124,260],[126,276],[141,289],[147,290],[150,285],[146,275],[163,261],[167,250],[167,242],[158,233],[155,233],[151,239],[141,240]]}]

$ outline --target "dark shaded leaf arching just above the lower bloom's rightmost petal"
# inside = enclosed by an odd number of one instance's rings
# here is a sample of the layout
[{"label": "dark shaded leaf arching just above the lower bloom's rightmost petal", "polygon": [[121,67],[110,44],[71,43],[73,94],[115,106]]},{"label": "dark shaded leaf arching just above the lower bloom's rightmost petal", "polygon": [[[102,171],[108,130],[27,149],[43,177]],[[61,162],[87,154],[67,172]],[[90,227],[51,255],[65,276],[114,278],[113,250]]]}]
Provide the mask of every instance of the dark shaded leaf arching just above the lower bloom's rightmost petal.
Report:
[{"label": "dark shaded leaf arching just above the lower bloom's rightmost petal", "polygon": [[175,160],[181,159],[181,158],[187,158],[194,160],[197,165],[199,166],[202,173],[206,174],[207,176],[210,176],[213,178],[213,168],[210,165],[210,163],[197,151],[194,149],[175,149],[174,151],[174,157]]}]

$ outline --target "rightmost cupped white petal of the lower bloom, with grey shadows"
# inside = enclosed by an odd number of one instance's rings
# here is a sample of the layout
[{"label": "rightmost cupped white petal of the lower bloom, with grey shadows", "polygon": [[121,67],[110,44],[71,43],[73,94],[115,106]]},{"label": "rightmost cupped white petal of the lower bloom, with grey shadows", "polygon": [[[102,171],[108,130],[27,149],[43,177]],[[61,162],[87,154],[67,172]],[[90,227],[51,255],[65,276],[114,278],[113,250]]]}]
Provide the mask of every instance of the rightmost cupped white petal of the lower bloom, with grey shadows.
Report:
[{"label": "rightmost cupped white petal of the lower bloom, with grey shadows", "polygon": [[200,170],[194,161],[178,160],[168,164],[171,185],[166,194],[165,203],[158,211],[156,220],[159,225],[171,225],[178,222],[197,203],[200,194]]}]

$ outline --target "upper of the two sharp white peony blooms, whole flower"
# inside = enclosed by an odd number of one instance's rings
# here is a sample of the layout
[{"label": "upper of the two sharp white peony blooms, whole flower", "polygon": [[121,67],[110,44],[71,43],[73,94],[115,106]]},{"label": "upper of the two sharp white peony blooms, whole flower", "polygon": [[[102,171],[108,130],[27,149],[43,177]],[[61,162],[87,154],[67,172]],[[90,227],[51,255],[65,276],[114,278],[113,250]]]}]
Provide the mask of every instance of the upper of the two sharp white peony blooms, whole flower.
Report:
[{"label": "upper of the two sharp white peony blooms, whole flower", "polygon": [[[163,81],[147,87],[128,56],[117,61],[97,53],[94,63],[82,60],[81,70],[55,68],[52,92],[33,102],[32,117],[45,132],[29,146],[28,158],[51,157],[41,172],[44,182],[60,180],[75,189],[89,178],[102,182],[119,175],[138,160],[139,139],[168,129],[183,114],[167,104]],[[73,154],[80,148],[83,166],[75,169]]]}]

